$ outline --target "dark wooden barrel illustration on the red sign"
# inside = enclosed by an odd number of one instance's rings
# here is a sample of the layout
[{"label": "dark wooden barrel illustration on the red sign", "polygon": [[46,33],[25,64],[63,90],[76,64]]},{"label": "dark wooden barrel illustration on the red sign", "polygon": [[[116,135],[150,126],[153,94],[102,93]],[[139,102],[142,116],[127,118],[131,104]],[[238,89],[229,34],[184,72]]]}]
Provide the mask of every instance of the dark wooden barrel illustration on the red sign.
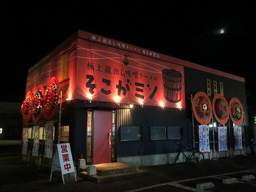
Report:
[{"label": "dark wooden barrel illustration on the red sign", "polygon": [[174,69],[164,68],[162,70],[164,97],[169,102],[180,102],[182,74]]}]

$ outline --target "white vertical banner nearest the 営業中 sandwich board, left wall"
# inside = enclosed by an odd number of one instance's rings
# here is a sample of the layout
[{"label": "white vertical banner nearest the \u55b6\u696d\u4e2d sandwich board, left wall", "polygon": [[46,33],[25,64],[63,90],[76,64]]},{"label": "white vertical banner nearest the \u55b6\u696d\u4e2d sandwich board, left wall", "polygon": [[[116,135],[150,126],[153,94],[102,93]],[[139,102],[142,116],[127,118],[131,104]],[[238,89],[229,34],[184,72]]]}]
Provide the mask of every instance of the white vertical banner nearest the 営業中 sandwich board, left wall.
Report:
[{"label": "white vertical banner nearest the \u55b6\u696d\u4e2d sandwich board, left wall", "polygon": [[53,122],[45,124],[44,157],[52,159],[53,154]]}]

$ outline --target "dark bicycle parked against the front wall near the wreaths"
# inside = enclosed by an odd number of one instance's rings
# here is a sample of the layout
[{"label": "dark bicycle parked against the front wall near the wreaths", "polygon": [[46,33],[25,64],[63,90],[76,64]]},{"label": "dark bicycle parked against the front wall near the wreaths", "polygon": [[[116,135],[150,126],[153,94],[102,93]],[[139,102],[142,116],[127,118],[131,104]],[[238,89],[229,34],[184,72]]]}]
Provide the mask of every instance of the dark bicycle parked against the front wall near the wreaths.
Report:
[{"label": "dark bicycle parked against the front wall near the wreaths", "polygon": [[178,153],[177,156],[175,157],[174,164],[179,159],[181,153],[185,157],[185,162],[200,164],[202,161],[204,161],[204,154],[202,152],[196,150],[195,148],[189,149],[187,146],[181,145],[178,142],[177,145]]}]

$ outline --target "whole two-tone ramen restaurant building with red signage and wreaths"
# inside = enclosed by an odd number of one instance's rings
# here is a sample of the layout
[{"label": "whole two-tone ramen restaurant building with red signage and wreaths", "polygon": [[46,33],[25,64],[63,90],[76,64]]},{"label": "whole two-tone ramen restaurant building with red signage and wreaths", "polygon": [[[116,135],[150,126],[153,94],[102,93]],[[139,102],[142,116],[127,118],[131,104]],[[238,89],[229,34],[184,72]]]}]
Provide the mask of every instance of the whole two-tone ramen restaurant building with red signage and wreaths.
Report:
[{"label": "whole two-tone ramen restaurant building with red signage and wreaths", "polygon": [[21,112],[22,154],[40,163],[67,142],[86,164],[173,163],[177,141],[250,150],[243,77],[81,30],[29,68]]}]

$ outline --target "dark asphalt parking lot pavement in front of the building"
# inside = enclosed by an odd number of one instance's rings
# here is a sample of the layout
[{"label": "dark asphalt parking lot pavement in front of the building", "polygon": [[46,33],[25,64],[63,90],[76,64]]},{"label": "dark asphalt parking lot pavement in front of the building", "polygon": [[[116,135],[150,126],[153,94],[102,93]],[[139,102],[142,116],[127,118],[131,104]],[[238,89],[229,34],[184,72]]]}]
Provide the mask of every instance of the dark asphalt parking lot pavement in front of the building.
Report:
[{"label": "dark asphalt parking lot pavement in front of the building", "polygon": [[[1,142],[0,142],[1,143]],[[80,177],[65,178],[52,175],[51,168],[26,163],[21,158],[17,145],[0,146],[0,191],[200,191],[202,184],[213,184],[214,188],[203,191],[256,191],[256,179],[244,180],[243,175],[256,176],[254,154],[236,157],[221,157],[204,160],[200,165],[189,163],[143,166],[147,170],[143,177],[93,183]],[[223,184],[223,180],[237,182]],[[229,180],[229,182],[232,180]],[[202,191],[202,190],[201,190]]]}]

